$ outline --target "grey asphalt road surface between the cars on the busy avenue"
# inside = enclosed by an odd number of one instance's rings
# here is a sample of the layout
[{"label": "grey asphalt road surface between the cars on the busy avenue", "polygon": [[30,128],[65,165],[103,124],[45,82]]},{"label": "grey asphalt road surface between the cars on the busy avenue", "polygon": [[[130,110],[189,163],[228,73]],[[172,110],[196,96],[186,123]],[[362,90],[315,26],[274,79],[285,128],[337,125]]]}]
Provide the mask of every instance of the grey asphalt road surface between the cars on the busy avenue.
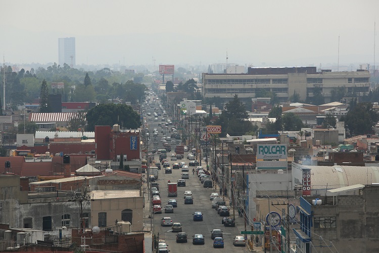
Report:
[{"label": "grey asphalt road surface between the cars on the busy avenue", "polygon": [[[158,103],[156,104],[158,106]],[[154,108],[147,109],[147,112],[154,112]],[[154,118],[154,117],[153,117]],[[160,132],[161,127],[158,126],[158,122],[162,122],[161,118],[158,117],[159,121],[149,120],[149,128],[150,134],[152,135],[152,130],[154,128],[158,129],[159,135],[157,140],[159,141],[159,145],[153,145],[154,138],[152,137],[151,144],[149,149],[159,149],[163,147],[160,139],[162,138],[162,134]],[[170,161],[169,154],[174,153],[174,145],[172,146],[172,151],[167,152],[167,157],[170,162],[170,167],[172,168],[172,164],[174,162],[184,161],[187,163],[189,160],[185,159],[187,152],[184,154],[184,159],[177,161]],[[158,159],[159,156],[155,154],[155,158]],[[205,166],[205,164],[203,164]],[[211,206],[211,200],[209,199],[209,195],[212,192],[218,192],[214,189],[204,188],[203,184],[201,184],[199,178],[192,174],[192,168],[189,167],[189,179],[186,181],[185,187],[178,187],[178,195],[177,197],[168,197],[167,196],[167,181],[177,182],[177,180],[181,179],[181,169],[172,170],[172,174],[165,174],[165,171],[162,167],[162,170],[159,171],[159,180],[156,181],[159,183],[159,192],[162,200],[162,208],[165,206],[165,202],[168,199],[175,198],[177,200],[178,206],[174,208],[173,214],[165,214],[164,210],[162,214],[155,214],[153,219],[154,224],[154,233],[157,234],[159,232],[159,238],[165,239],[168,244],[169,250],[171,253],[175,252],[249,252],[247,247],[244,246],[233,246],[233,238],[236,235],[241,235],[241,232],[236,227],[224,227],[221,224],[222,217],[220,217],[216,210]],[[192,191],[194,197],[194,204],[186,204],[184,205],[184,191]],[[225,199],[227,202],[228,200]],[[194,212],[202,212],[203,221],[193,221]],[[173,222],[179,222],[182,225],[182,232],[185,232],[188,236],[187,243],[176,243],[176,232],[171,232],[171,227],[162,227],[160,225],[160,220],[163,217],[172,218]],[[213,248],[213,241],[211,239],[211,231],[212,229],[221,229],[223,231],[224,238],[224,248]],[[204,245],[193,245],[192,244],[192,236],[194,234],[203,234],[205,237]]]}]

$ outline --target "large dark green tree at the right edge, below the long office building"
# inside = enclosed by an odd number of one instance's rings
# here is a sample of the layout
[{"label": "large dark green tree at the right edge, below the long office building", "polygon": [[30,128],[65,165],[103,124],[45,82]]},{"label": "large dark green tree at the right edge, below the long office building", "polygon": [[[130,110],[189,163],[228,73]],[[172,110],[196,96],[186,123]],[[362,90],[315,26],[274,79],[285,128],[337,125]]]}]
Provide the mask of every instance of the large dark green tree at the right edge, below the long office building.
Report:
[{"label": "large dark green tree at the right edge, below the long office building", "polygon": [[372,109],[372,104],[358,103],[349,108],[351,109],[348,113],[341,117],[341,121],[345,121],[345,128],[348,129],[349,133],[351,135],[373,133],[372,127],[379,121],[379,112]]}]

